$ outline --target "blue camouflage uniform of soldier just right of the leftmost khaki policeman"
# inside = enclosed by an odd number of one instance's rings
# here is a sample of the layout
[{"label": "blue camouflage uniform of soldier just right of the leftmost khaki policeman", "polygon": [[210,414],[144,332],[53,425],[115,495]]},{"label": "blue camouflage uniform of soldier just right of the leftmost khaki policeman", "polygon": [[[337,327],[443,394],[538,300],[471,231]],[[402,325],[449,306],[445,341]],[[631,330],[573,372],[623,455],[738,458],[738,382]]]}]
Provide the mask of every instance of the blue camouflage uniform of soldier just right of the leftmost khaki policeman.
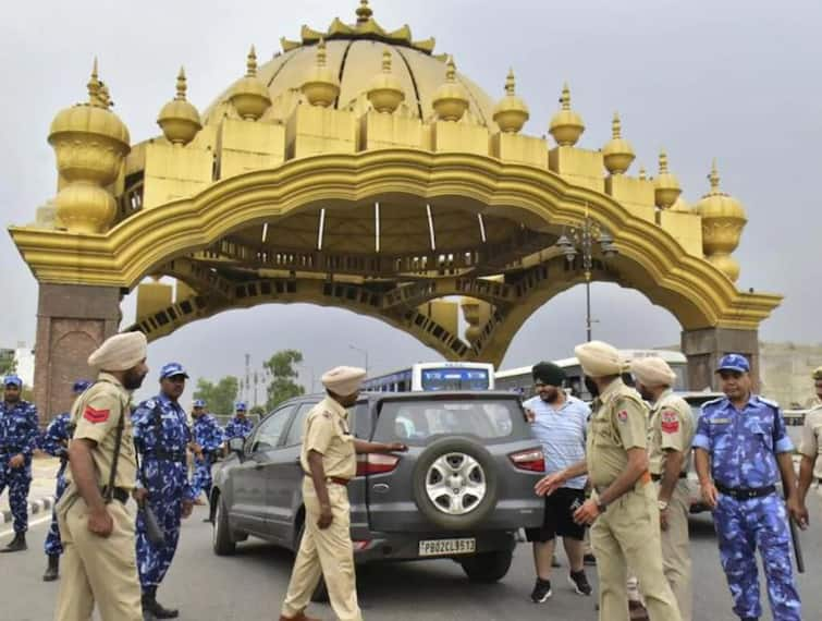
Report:
[{"label": "blue camouflage uniform of soldier just right of the leftmost khaki policeman", "polygon": [[193,501],[186,449],[192,433],[185,411],[164,394],[142,402],[132,415],[134,445],[140,458],[137,486],[148,490],[148,504],[162,529],[164,545],[155,546],[137,512],[137,569],[143,590],[157,587],[171,565],[180,539],[183,501]]}]

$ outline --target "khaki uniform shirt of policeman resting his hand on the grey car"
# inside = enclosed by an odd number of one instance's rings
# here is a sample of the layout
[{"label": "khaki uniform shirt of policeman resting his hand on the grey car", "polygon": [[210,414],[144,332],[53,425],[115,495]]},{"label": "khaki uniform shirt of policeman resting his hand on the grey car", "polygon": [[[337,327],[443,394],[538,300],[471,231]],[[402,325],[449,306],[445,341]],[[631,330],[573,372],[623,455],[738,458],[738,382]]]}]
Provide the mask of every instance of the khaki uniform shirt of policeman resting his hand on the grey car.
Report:
[{"label": "khaki uniform shirt of policeman resting his hand on the grey car", "polygon": [[311,409],[304,425],[303,449],[299,454],[303,471],[306,474],[311,472],[308,451],[317,451],[322,454],[326,476],[354,478],[357,474],[357,456],[345,407],[327,397]]}]

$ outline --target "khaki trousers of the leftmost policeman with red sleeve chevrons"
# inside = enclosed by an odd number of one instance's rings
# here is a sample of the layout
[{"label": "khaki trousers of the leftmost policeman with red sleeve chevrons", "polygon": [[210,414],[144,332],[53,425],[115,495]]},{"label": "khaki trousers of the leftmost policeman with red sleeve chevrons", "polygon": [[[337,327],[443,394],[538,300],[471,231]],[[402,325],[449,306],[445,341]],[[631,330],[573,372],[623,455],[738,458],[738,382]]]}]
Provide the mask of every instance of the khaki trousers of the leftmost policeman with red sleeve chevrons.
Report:
[{"label": "khaki trousers of the leftmost policeman with red sleeve chevrons", "polygon": [[102,621],[143,621],[134,515],[116,500],[108,504],[108,510],[114,522],[108,538],[88,529],[88,511],[82,498],[68,510],[58,511],[65,551],[56,621],[90,621],[95,602]]}]

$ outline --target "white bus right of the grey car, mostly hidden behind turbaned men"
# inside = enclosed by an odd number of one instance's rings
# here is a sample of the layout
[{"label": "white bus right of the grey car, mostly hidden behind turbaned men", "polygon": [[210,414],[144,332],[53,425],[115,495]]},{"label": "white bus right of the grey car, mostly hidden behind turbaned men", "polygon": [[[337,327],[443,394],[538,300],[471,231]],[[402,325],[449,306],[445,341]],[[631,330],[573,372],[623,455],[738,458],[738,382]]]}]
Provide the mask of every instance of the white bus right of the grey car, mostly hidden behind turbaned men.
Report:
[{"label": "white bus right of the grey car, mostly hidden behind turbaned men", "polygon": [[[671,350],[619,350],[619,354],[625,361],[659,356],[671,365],[671,369],[676,374],[674,390],[682,391],[689,389],[687,381],[688,361],[682,352]],[[565,387],[571,390],[571,393],[584,401],[589,401],[591,395],[585,387],[582,368],[579,366],[579,361],[576,357],[571,357],[553,362],[565,372]],[[495,378],[499,390],[519,392],[524,399],[533,394],[533,378],[530,366],[498,372]]]}]

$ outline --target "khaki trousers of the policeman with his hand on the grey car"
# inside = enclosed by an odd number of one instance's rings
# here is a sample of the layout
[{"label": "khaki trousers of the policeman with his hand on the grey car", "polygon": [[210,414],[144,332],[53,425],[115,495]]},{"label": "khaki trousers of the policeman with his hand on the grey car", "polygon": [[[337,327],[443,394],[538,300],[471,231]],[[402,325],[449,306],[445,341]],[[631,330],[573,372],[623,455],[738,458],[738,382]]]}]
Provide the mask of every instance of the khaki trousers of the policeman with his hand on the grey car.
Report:
[{"label": "khaki trousers of the policeman with his hand on the grey car", "polygon": [[314,484],[308,477],[303,482],[305,531],[294,561],[282,614],[291,618],[303,612],[322,576],[326,579],[331,608],[338,619],[361,621],[354,574],[354,547],[351,543],[348,490],[344,485],[329,483],[328,495],[334,519],[328,528],[320,529],[317,526],[320,503]]}]

